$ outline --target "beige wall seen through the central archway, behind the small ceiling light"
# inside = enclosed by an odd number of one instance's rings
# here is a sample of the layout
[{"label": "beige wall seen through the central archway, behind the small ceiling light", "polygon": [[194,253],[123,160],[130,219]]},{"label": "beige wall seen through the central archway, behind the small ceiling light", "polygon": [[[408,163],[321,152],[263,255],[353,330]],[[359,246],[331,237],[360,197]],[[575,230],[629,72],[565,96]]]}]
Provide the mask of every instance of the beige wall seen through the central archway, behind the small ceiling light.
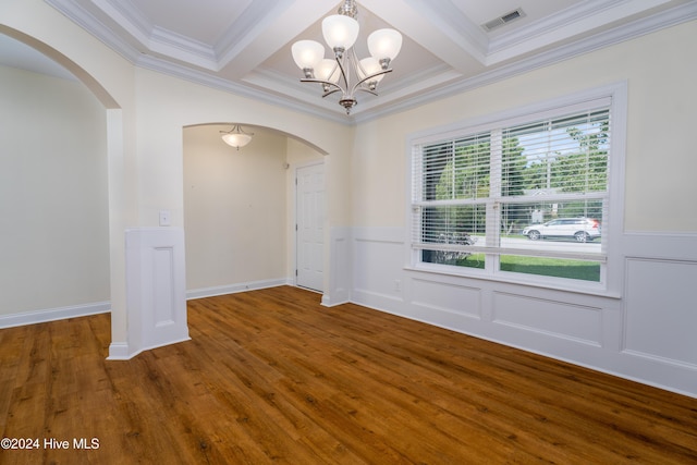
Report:
[{"label": "beige wall seen through the central archway, behind the small ceiling light", "polygon": [[254,132],[240,150],[230,125],[184,129],[184,228],[188,290],[285,280],[286,137]]}]

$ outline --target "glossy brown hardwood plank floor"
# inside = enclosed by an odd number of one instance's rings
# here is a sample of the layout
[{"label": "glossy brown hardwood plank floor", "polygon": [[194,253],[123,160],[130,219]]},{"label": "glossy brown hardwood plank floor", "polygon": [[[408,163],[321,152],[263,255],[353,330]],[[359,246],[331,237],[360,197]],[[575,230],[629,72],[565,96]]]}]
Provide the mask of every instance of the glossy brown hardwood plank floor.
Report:
[{"label": "glossy brown hardwood plank floor", "polygon": [[127,362],[108,315],[0,330],[2,437],[39,441],[0,463],[697,463],[695,399],[307,291],[188,322]]}]

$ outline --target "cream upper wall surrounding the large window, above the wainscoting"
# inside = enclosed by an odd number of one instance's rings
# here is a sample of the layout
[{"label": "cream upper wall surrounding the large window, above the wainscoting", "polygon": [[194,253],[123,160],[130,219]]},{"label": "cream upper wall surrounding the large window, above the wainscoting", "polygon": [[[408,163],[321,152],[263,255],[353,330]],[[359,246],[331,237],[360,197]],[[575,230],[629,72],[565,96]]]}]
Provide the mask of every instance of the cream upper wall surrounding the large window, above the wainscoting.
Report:
[{"label": "cream upper wall surrounding the large window, above the wainscoting", "polygon": [[697,231],[697,22],[587,53],[357,129],[354,225],[403,227],[409,134],[626,81],[625,229]]}]

